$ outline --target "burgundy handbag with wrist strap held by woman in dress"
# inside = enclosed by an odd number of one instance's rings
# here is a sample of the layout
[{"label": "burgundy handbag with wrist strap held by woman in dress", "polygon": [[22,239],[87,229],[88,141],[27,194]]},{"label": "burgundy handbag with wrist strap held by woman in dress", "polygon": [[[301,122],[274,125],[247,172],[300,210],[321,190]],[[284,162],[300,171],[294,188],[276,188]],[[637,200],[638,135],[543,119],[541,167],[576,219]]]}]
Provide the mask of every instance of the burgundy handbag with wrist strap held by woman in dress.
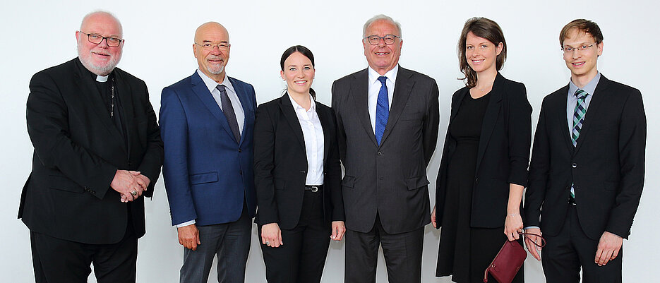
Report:
[{"label": "burgundy handbag with wrist strap held by woman in dress", "polygon": [[[532,233],[518,232],[518,234],[522,234],[523,237],[527,235],[541,237],[541,235]],[[534,244],[543,248],[546,246],[546,239],[541,237],[541,244]],[[486,268],[484,282],[488,282],[488,273],[490,273],[499,283],[511,283],[513,277],[520,270],[522,263],[524,263],[525,258],[527,258],[527,251],[520,246],[520,243],[517,241],[506,241],[495,258],[493,258],[491,265],[488,265],[488,268]]]}]

